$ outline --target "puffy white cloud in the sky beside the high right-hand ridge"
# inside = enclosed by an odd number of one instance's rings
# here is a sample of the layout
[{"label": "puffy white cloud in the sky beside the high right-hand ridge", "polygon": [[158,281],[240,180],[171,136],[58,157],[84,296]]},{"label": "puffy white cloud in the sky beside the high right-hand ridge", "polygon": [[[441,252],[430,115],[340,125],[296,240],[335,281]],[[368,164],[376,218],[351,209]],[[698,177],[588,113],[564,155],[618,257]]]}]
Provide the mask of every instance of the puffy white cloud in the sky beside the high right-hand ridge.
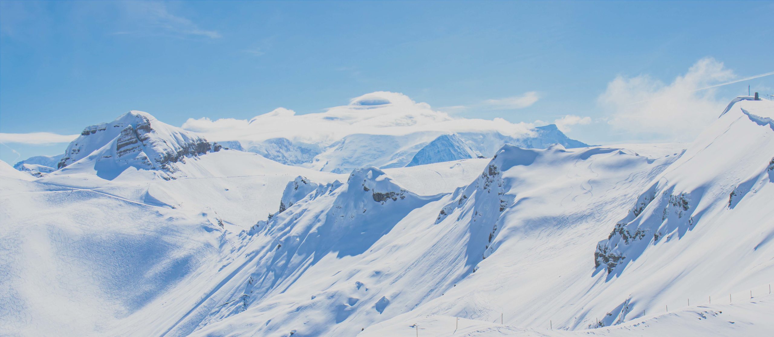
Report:
[{"label": "puffy white cloud in the sky beside the high right-hand ridge", "polygon": [[691,141],[728,104],[715,97],[714,85],[734,77],[723,63],[705,58],[669,84],[648,75],[616,77],[598,104],[610,114],[608,123],[632,138]]}]

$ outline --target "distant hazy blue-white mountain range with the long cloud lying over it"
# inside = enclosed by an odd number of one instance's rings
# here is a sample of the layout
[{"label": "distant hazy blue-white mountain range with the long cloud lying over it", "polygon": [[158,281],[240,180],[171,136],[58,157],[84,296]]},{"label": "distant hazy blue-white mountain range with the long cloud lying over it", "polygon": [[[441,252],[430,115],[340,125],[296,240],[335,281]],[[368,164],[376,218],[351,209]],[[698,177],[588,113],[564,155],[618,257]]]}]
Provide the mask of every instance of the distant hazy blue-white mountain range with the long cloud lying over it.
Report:
[{"label": "distant hazy blue-white mountain range with the long cloud lying over it", "polygon": [[502,118],[488,121],[451,117],[434,111],[429,104],[386,91],[355,97],[350,104],[323,113],[296,114],[278,108],[250,121],[189,119],[183,128],[283,164],[337,173],[366,166],[406,166],[431,141],[450,133],[457,134],[478,155],[488,157],[504,144],[525,148],[587,146],[567,138],[554,124],[534,128],[532,124],[513,124]]}]

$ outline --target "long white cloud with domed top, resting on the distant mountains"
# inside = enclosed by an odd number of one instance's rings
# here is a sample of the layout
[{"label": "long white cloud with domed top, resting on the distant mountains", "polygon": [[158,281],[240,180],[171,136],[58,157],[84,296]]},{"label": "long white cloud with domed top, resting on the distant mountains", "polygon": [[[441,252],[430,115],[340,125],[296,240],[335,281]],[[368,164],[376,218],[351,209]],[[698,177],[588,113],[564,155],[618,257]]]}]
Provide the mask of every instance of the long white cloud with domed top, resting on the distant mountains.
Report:
[{"label": "long white cloud with domed top, resting on the distant mountains", "polygon": [[501,134],[532,135],[533,124],[451,117],[430,104],[417,103],[404,94],[377,91],[316,114],[296,114],[277,108],[248,120],[223,118],[212,121],[190,118],[183,128],[199,132],[211,141],[264,141],[289,138],[329,145],[349,134],[410,134],[414,132],[498,131]]}]

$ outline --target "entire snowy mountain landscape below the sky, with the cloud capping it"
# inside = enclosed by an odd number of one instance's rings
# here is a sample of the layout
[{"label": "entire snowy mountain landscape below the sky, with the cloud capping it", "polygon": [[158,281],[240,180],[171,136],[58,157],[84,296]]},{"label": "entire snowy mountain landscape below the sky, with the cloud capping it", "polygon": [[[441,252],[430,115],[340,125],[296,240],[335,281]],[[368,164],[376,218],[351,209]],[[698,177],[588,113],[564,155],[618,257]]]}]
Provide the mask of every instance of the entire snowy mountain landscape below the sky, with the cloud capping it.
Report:
[{"label": "entire snowy mountain landscape below the sky, with the cloud capping it", "polygon": [[774,102],[705,113],[589,146],[385,92],[129,111],[0,162],[0,335],[774,335]]}]

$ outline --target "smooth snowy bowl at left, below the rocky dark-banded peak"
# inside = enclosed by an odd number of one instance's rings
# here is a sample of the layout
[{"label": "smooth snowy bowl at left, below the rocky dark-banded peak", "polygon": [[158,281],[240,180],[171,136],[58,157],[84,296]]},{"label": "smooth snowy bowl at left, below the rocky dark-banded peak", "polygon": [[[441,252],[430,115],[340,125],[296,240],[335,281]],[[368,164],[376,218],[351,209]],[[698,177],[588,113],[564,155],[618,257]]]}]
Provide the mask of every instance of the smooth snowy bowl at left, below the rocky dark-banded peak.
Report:
[{"label": "smooth snowy bowl at left, below the rocky dark-banded peak", "polygon": [[241,230],[276,212],[296,175],[342,179],[232,150],[175,165],[184,177],[65,168],[30,181],[3,162],[0,335],[160,335],[217,285]]}]

